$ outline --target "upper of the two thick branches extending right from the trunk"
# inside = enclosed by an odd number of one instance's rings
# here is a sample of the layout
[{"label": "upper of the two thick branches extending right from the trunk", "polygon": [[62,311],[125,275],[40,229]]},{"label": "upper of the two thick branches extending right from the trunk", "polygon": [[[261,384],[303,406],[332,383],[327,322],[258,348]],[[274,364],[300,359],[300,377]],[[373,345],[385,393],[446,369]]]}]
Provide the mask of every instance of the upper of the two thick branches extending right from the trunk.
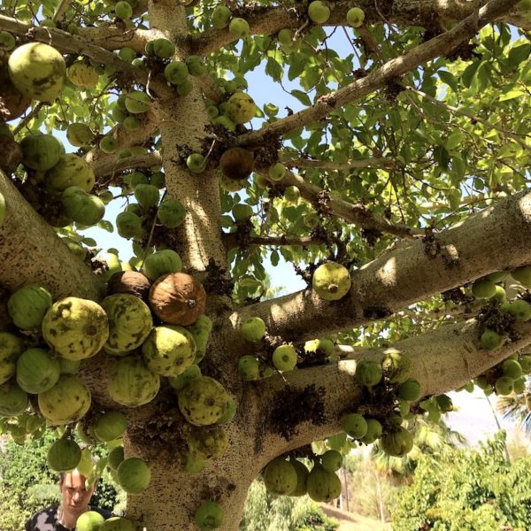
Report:
[{"label": "upper of the two thick branches extending right from the trunk", "polygon": [[389,250],[351,275],[350,293],[328,303],[311,289],[251,304],[250,316],[287,341],[311,339],[388,317],[420,300],[482,276],[531,263],[531,193],[501,200],[459,223]]}]

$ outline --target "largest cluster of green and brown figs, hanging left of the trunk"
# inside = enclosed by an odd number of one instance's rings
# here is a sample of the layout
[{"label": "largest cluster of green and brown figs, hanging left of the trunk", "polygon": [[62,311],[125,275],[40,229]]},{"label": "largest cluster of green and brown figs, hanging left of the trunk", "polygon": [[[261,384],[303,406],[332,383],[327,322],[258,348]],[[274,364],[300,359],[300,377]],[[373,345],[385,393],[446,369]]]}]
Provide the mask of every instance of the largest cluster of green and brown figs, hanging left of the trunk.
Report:
[{"label": "largest cluster of green and brown figs, hanging left of the trunk", "polygon": [[[164,251],[160,254],[162,258],[151,255],[146,267],[154,281],[140,272],[114,273],[99,304],[74,296],[54,302],[41,285],[23,286],[7,300],[10,331],[0,331],[0,418],[26,415],[27,433],[43,423],[65,427],[64,435],[50,446],[50,467],[77,468],[94,476],[97,466],[89,447],[81,449],[73,438],[71,428],[77,423],[84,443],[107,444],[104,466],[133,495],[148,487],[150,466],[139,457],[124,458],[124,408],[148,404],[158,395],[163,377],[189,425],[186,472],[203,470],[227,449],[223,425],[235,414],[234,399],[197,365],[212,329],[204,315],[204,288],[187,273],[165,273],[174,263],[165,259]],[[102,351],[112,358],[107,390],[116,408],[98,406],[94,411],[78,372],[83,359]],[[30,402],[33,412],[28,414]]]}]

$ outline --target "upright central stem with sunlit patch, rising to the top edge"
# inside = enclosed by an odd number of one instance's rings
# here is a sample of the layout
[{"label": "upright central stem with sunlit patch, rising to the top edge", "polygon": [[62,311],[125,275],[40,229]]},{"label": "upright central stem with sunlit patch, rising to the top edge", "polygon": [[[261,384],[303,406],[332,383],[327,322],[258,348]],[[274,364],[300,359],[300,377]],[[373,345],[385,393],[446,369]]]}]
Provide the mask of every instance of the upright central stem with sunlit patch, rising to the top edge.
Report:
[{"label": "upright central stem with sunlit patch, rising to the top edge", "polygon": [[[186,12],[182,5],[150,2],[150,24],[164,28],[182,42],[189,34]],[[180,53],[178,51],[178,53]],[[178,252],[183,266],[204,271],[214,261],[227,269],[227,252],[221,230],[219,180],[215,171],[191,173],[186,160],[193,152],[208,153],[210,119],[201,94],[200,81],[191,81],[194,88],[187,96],[161,100],[155,105],[160,134],[163,139],[162,158],[168,196],[181,201],[186,217],[176,228]],[[183,120],[182,117],[187,119]]]}]

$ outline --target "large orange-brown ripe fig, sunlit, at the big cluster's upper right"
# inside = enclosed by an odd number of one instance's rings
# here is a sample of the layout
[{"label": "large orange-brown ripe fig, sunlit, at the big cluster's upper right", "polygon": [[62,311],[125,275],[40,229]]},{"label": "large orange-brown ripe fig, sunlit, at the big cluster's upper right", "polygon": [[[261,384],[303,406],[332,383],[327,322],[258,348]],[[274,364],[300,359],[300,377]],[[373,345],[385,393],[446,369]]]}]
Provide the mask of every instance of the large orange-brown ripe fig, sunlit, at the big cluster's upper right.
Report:
[{"label": "large orange-brown ripe fig, sunlit, at the big cluster's upper right", "polygon": [[203,285],[187,273],[168,273],[150,289],[151,310],[165,323],[188,327],[204,312]]}]

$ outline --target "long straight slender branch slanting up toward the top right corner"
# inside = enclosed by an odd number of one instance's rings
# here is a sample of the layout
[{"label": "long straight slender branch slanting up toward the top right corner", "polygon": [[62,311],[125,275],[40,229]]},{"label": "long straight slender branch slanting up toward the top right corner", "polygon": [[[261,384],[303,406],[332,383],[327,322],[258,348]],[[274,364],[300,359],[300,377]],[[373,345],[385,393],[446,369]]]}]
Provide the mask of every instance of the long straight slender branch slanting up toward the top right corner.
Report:
[{"label": "long straight slender branch slanting up toward the top right corner", "polygon": [[475,35],[481,27],[508,12],[517,2],[518,0],[491,0],[481,8],[477,25],[474,15],[466,17],[442,35],[419,44],[403,56],[391,59],[365,77],[352,81],[349,85],[330,92],[326,96],[319,97],[317,103],[312,107],[279,119],[258,131],[241,135],[237,139],[238,145],[260,145],[266,142],[266,138],[270,135],[284,135],[293,129],[325,118],[330,112],[339,109],[342,105],[371,94],[389,81],[410,72],[413,68],[423,65],[431,59],[447,55],[450,51],[455,50],[461,42],[465,42]]}]

